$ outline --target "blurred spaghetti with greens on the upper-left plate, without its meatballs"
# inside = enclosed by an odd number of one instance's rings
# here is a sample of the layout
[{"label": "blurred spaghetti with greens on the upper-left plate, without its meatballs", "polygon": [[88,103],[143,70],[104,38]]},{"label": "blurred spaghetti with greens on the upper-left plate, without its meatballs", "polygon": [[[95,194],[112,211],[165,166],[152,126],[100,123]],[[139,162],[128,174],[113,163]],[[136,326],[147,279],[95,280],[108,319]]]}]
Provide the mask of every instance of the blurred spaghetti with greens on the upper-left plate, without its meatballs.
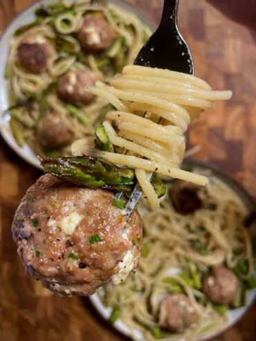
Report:
[{"label": "blurred spaghetti with greens on the upper-left plate, without its meatballs", "polygon": [[[23,137],[17,141],[19,145],[26,141],[36,154],[67,156],[70,144],[57,150],[44,149],[39,144],[39,119],[48,111],[57,111],[73,133],[73,140],[86,138],[92,145],[94,128],[102,122],[109,106],[105,100],[96,98],[91,104],[68,110],[55,91],[57,81],[67,71],[86,71],[93,79],[108,82],[123,66],[132,64],[150,30],[133,13],[123,12],[101,1],[60,1],[37,8],[35,15],[33,23],[22,26],[12,37],[6,64],[10,114],[16,129],[19,129],[19,136]],[[107,21],[113,32],[111,45],[102,53],[84,53],[77,39],[84,19],[91,17]],[[48,47],[47,66],[42,73],[26,70],[17,58],[19,45],[28,39]],[[44,114],[41,102],[47,104]],[[13,134],[17,135],[15,131]]]}]

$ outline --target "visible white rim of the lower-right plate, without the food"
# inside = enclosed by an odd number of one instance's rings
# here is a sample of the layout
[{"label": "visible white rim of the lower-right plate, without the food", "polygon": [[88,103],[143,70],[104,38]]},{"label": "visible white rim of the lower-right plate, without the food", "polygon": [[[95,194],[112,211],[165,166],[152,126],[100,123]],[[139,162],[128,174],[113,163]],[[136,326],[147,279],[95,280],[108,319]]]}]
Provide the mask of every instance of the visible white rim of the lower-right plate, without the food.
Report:
[{"label": "visible white rim of the lower-right plate, without the food", "polygon": [[[190,161],[188,160],[185,163],[188,165],[192,165],[195,170],[196,169],[199,169],[199,170],[211,169],[212,174],[214,176],[216,176],[221,181],[226,183],[226,185],[228,185],[234,192],[237,193],[237,195],[241,198],[241,200],[244,201],[244,204],[248,208],[249,212],[251,210],[255,210],[255,203],[254,203],[253,199],[250,198],[248,193],[244,190],[244,188],[241,187],[241,185],[239,185],[239,183],[237,183],[235,180],[230,178],[230,176],[228,176],[228,174],[224,173],[221,169],[219,169],[219,167],[215,167],[214,165],[210,165],[208,163],[201,163],[199,161],[194,161],[194,160],[190,160]],[[253,232],[256,233],[256,225],[255,224],[253,225],[252,228],[253,228]],[[256,273],[255,273],[255,276],[256,276]],[[202,340],[208,340],[209,338],[212,338],[212,337],[218,335],[219,333],[222,333],[223,331],[228,329],[230,326],[232,326],[232,324],[235,324],[238,320],[240,320],[241,317],[248,310],[249,306],[253,303],[255,297],[256,297],[256,289],[252,289],[250,291],[247,291],[246,292],[246,306],[228,311],[228,313],[227,313],[228,314],[228,324],[225,327],[223,327],[223,329],[212,333],[212,335],[209,335],[207,338],[203,338]],[[91,303],[93,304],[93,306],[95,307],[95,309],[98,311],[98,313],[105,320],[109,320],[112,308],[108,308],[108,307],[104,306],[102,304],[102,302],[100,301],[100,298],[99,298],[97,293],[90,296],[89,299],[90,299]],[[115,329],[117,329],[118,331],[120,331],[120,333],[122,333],[128,337],[130,337],[131,333],[133,333],[134,337],[136,337],[137,340],[144,340],[143,334],[139,330],[133,329],[131,331],[131,329],[129,329],[129,327],[124,322],[122,322],[122,320],[116,320],[116,322],[113,323],[113,327]],[[185,340],[183,339],[180,341],[185,341]]]}]

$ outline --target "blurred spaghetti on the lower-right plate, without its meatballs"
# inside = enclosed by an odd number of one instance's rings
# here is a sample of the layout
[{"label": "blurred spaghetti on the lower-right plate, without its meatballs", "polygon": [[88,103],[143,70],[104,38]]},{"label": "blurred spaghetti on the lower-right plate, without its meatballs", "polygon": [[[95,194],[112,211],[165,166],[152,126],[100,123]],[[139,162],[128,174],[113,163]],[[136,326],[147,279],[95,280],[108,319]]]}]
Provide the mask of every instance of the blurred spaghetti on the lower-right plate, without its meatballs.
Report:
[{"label": "blurred spaghetti on the lower-right plate, without its meatballs", "polygon": [[[103,304],[118,311],[134,340],[154,340],[156,332],[161,340],[201,340],[223,329],[228,317],[215,310],[201,284],[211,266],[226,264],[248,288],[246,281],[254,267],[250,232],[243,225],[247,209],[230,187],[210,178],[208,195],[214,210],[206,206],[184,216],[174,210],[169,197],[154,212],[146,201],[140,203],[144,231],[138,270],[122,284],[107,284],[98,291]],[[191,242],[195,240],[204,252]],[[237,272],[237,264],[243,262],[248,266],[246,274]],[[194,282],[191,271],[196,273]],[[170,333],[163,328],[161,302],[170,293],[182,292],[188,295],[198,320],[183,333]]]}]

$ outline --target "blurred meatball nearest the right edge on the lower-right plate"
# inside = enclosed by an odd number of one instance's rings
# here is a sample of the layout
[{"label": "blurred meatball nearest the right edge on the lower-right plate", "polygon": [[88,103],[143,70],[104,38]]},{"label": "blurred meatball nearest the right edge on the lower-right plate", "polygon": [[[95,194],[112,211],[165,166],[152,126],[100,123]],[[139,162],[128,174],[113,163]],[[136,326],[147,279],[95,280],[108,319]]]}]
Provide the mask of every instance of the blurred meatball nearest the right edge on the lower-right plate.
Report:
[{"label": "blurred meatball nearest the right edge on the lower-right plate", "polygon": [[212,275],[207,275],[203,279],[203,292],[214,303],[231,303],[235,299],[238,289],[237,276],[225,266],[214,267]]}]

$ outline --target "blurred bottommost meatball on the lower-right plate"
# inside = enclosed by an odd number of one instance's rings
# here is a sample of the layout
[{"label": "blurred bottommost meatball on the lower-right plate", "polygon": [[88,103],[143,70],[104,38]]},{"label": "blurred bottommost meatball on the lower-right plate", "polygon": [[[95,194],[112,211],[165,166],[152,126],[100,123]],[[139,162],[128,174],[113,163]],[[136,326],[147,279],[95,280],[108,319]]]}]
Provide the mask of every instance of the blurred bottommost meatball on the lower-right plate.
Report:
[{"label": "blurred bottommost meatball on the lower-right plate", "polygon": [[182,332],[196,322],[197,314],[190,299],[184,294],[167,295],[161,304],[161,314],[165,316],[164,327]]}]

